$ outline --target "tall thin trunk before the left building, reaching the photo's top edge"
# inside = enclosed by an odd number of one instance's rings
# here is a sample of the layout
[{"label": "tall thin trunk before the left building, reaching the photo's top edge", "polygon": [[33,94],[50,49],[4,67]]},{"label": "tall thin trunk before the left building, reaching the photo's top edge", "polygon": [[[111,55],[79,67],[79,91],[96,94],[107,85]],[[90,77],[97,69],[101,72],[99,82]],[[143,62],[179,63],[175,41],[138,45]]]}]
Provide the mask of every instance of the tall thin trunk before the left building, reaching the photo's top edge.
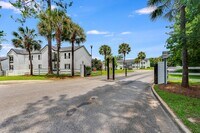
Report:
[{"label": "tall thin trunk before the left building, reaching the photo's top edge", "polygon": [[[51,0],[47,0],[47,5],[49,9],[49,16],[51,16]],[[51,21],[50,22],[50,27],[51,26]],[[48,74],[53,74],[53,66],[52,66],[52,29],[50,30],[50,33],[48,35]]]}]

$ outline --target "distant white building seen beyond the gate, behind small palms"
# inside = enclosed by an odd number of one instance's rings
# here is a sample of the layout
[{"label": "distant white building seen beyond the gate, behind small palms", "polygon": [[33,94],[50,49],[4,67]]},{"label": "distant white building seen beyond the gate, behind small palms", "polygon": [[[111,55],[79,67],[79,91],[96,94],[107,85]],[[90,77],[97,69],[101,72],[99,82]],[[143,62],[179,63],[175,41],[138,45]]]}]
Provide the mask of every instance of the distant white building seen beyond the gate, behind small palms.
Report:
[{"label": "distant white building seen beyond the gate, behind small palms", "polygon": [[[123,69],[123,60],[117,61],[117,69]],[[148,68],[150,67],[150,60],[148,58],[140,61],[139,63],[135,63],[134,59],[125,60],[125,63],[128,69],[140,69],[140,68]]]}]

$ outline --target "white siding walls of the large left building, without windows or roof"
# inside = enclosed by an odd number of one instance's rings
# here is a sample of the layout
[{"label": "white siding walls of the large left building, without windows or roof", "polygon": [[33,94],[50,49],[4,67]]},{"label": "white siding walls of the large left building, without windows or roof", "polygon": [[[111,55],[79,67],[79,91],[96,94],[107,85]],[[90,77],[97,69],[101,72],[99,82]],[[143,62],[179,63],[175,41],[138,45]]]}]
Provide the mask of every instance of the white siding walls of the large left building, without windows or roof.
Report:
[{"label": "white siding walls of the large left building, without windows or roof", "polygon": [[[56,53],[54,49],[52,49],[52,57],[54,56],[53,53]],[[70,53],[70,58],[65,59],[65,53]],[[38,55],[40,55],[40,60],[38,60]],[[75,59],[75,71],[80,71],[80,65],[82,62],[84,62],[85,65],[91,66],[91,56],[88,54],[88,51],[85,49],[84,46],[79,47],[74,51],[74,59]],[[28,54],[17,54],[13,49],[11,49],[7,56],[13,56],[13,63],[11,63],[14,66],[14,70],[9,70],[8,75],[23,75],[29,73],[29,55]],[[47,73],[48,72],[48,46],[45,46],[40,52],[38,53],[32,53],[33,56],[33,70],[34,74],[41,74],[41,73]],[[71,52],[68,51],[62,51],[60,52],[60,70],[62,72],[70,72],[71,71]],[[53,69],[55,68],[56,61],[52,61]],[[70,69],[65,69],[65,64],[70,64]],[[9,58],[8,58],[8,68],[9,68]],[[38,66],[41,65],[41,69],[38,68]],[[55,70],[55,69],[54,69]],[[13,74],[12,74],[13,73]]]}]

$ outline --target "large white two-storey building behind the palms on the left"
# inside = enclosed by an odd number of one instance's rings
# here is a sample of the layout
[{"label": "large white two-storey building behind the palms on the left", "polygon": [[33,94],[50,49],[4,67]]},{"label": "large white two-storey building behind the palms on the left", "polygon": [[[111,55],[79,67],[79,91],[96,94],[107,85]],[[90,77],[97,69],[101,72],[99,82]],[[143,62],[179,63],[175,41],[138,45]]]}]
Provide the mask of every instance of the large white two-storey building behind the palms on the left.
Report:
[{"label": "large white two-storey building behind the palms on the left", "polygon": [[[60,72],[71,71],[71,47],[60,49]],[[34,74],[46,74],[48,71],[48,46],[44,46],[39,51],[32,52],[32,62]],[[80,65],[91,66],[91,55],[84,46],[76,46],[74,50],[74,69],[80,71]],[[28,52],[24,49],[11,49],[7,53],[7,60],[3,70],[6,75],[24,75],[30,73],[30,61]],[[52,64],[56,70],[57,56],[56,47],[52,47]]]}]

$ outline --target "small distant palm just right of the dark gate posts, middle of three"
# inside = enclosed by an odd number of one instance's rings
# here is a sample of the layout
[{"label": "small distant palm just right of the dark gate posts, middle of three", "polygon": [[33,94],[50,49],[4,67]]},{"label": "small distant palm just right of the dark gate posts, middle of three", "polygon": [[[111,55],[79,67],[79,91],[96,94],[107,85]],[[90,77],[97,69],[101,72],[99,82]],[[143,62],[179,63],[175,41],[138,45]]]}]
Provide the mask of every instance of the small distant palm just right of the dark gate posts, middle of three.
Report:
[{"label": "small distant palm just right of the dark gate posts, middle of three", "polygon": [[[126,58],[126,54],[129,54],[129,52],[131,51],[131,47],[129,46],[129,44],[127,43],[122,43],[119,45],[119,49],[118,49],[118,53],[122,54],[124,56],[124,66],[125,66],[125,58]],[[123,68],[124,68],[123,66]]]}]

